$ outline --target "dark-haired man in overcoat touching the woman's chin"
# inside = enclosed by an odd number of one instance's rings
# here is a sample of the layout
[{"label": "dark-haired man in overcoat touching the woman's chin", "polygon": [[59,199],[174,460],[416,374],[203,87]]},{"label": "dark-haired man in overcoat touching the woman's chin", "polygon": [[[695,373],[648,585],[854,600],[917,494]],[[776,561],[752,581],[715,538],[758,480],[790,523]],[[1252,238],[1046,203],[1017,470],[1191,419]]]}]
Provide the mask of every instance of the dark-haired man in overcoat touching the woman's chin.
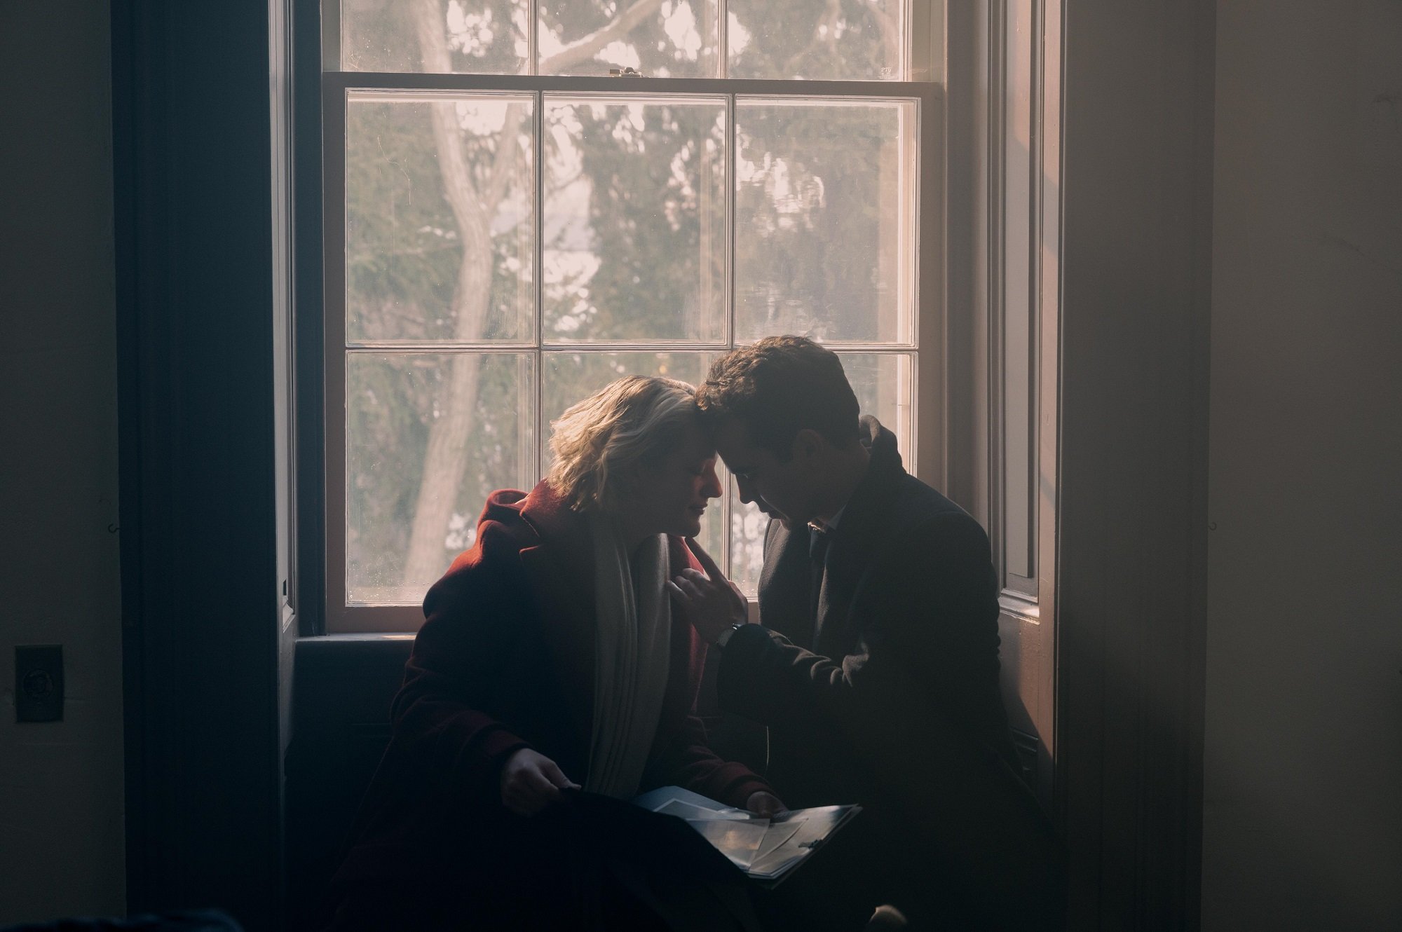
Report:
[{"label": "dark-haired man in overcoat touching the woman's chin", "polygon": [[698,401],[740,500],[771,519],[761,624],[694,542],[707,573],[677,576],[673,600],[721,652],[721,706],[770,726],[777,792],[865,809],[794,898],[830,928],[861,928],[878,903],[916,928],[1059,928],[1057,844],[998,688],[983,528],[906,472],[812,341],[728,353]]}]

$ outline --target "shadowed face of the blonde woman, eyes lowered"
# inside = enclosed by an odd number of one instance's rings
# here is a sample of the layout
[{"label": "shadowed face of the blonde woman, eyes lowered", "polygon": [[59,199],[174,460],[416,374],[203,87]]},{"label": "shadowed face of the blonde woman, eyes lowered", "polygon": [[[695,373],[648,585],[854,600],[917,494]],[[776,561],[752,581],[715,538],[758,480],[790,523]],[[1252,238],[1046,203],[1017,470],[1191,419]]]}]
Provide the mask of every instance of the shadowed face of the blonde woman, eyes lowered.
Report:
[{"label": "shadowed face of the blonde woman, eyes lowered", "polygon": [[632,495],[622,507],[627,521],[644,534],[695,537],[707,502],[721,496],[715,475],[715,447],[693,420],[681,443],[655,464],[639,470]]}]

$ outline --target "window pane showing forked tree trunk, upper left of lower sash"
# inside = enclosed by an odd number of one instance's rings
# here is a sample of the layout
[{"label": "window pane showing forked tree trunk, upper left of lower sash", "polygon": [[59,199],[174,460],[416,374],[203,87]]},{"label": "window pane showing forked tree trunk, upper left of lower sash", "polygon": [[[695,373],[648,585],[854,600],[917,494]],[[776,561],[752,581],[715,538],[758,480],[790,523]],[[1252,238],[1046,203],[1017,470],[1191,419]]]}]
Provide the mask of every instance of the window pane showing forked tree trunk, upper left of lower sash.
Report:
[{"label": "window pane showing forked tree trunk, upper left of lower sash", "polygon": [[536,332],[530,95],[352,92],[346,339]]}]

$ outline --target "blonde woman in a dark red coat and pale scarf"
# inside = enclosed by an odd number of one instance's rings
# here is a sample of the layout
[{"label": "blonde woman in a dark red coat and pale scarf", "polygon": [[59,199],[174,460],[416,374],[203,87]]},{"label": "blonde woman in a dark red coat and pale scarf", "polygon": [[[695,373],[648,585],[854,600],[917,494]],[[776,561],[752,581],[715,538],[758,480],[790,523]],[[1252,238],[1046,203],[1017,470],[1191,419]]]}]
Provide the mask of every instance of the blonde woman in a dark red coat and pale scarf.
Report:
[{"label": "blonde woman in a dark red coat and pale scarf", "polygon": [[721,495],[691,385],[620,378],[552,423],[551,450],[530,493],[489,496],[423,601],[334,929],[669,928],[637,876],[587,856],[566,793],[676,783],[782,809],[691,715],[704,646],[665,584],[698,568],[683,538]]}]

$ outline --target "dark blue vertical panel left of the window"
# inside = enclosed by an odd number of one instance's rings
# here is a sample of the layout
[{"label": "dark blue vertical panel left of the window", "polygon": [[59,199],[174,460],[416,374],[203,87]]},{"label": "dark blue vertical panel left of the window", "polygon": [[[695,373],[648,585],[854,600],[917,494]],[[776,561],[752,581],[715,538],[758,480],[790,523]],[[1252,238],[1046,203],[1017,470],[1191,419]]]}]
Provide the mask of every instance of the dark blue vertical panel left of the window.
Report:
[{"label": "dark blue vertical panel left of the window", "polygon": [[116,3],[129,908],[279,900],[268,7]]}]

